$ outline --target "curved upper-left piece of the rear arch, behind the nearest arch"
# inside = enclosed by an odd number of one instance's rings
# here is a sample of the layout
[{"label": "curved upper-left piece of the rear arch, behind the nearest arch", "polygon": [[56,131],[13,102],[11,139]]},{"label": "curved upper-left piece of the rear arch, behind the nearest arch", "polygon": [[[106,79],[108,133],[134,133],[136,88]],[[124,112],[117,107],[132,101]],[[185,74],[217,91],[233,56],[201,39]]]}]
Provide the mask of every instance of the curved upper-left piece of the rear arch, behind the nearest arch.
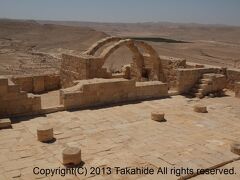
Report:
[{"label": "curved upper-left piece of the rear arch, behind the nearest arch", "polygon": [[114,37],[114,36],[103,38],[103,39],[97,41],[96,43],[94,43],[87,51],[84,52],[84,54],[94,56],[94,54],[97,52],[97,50],[100,49],[101,47],[103,47],[104,45],[106,45],[110,42],[117,42],[120,40],[122,40],[122,38]]}]

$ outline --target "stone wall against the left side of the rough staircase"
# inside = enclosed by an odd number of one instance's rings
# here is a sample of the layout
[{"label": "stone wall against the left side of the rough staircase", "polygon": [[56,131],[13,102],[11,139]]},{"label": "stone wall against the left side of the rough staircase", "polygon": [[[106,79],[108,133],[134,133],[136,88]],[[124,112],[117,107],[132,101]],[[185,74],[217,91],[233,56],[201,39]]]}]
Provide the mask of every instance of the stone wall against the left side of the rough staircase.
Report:
[{"label": "stone wall against the left side of the rough staircase", "polygon": [[223,73],[221,68],[197,68],[177,70],[177,90],[187,93],[205,73]]}]

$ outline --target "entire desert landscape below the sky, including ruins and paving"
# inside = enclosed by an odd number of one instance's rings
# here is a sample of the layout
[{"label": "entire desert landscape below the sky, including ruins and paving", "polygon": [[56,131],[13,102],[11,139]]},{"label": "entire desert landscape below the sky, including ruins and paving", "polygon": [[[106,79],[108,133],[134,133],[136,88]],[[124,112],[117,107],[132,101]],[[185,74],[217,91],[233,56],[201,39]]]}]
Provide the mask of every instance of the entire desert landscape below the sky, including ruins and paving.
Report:
[{"label": "entire desert landscape below the sky, including ruins and paving", "polygon": [[0,19],[0,180],[237,180],[239,102],[239,26]]}]

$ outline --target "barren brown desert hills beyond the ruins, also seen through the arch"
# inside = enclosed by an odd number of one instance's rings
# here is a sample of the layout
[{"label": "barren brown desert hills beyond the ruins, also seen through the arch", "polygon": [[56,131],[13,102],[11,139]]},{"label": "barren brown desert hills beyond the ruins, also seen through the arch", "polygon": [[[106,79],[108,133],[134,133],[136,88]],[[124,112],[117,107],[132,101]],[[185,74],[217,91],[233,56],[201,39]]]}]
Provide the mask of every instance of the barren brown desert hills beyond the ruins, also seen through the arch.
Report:
[{"label": "barren brown desert hills beyond the ruins, also seen through the arch", "polygon": [[[0,20],[0,74],[57,72],[61,53],[81,52],[108,35],[147,41],[159,55],[240,68],[240,27]],[[118,71],[130,62],[129,50],[122,47],[104,66]]]}]

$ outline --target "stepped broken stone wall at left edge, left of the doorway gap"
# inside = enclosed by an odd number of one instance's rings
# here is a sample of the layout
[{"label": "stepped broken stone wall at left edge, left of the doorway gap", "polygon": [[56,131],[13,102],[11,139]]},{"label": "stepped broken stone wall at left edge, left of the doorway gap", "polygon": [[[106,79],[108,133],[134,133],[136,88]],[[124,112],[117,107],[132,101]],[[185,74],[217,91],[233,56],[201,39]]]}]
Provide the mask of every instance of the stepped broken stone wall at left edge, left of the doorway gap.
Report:
[{"label": "stepped broken stone wall at left edge, left of the doorway gap", "polygon": [[41,98],[21,91],[8,78],[0,77],[0,118],[38,112]]}]

